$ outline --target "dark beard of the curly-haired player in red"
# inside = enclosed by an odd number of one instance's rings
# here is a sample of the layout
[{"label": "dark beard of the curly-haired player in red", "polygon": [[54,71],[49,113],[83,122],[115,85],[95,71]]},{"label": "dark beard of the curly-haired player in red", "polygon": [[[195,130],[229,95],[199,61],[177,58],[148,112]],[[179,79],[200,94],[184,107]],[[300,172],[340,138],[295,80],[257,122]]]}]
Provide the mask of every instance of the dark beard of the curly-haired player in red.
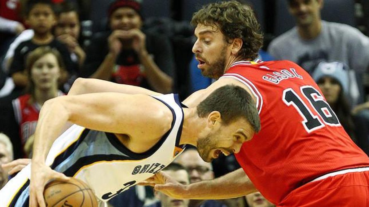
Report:
[{"label": "dark beard of the curly-haired player in red", "polygon": [[218,79],[223,76],[225,71],[225,52],[227,50],[226,46],[223,46],[217,61],[209,65],[208,70],[201,70],[201,74],[205,77]]}]

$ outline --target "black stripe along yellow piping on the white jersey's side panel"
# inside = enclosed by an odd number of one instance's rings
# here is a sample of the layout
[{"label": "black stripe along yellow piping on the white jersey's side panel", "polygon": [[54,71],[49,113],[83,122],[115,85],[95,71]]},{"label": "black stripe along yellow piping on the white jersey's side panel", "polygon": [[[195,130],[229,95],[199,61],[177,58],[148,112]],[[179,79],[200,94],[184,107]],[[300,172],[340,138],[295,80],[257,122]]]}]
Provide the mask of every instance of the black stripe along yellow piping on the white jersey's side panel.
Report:
[{"label": "black stripe along yellow piping on the white jersey's side panel", "polygon": [[[116,139],[116,138],[115,138]],[[113,160],[137,160],[134,157],[130,157],[130,155],[113,155],[113,154],[99,154],[99,155],[90,155],[79,158],[72,166],[66,169],[63,174],[72,177],[75,175],[83,166],[93,164],[94,162],[100,161],[113,161]]]}]

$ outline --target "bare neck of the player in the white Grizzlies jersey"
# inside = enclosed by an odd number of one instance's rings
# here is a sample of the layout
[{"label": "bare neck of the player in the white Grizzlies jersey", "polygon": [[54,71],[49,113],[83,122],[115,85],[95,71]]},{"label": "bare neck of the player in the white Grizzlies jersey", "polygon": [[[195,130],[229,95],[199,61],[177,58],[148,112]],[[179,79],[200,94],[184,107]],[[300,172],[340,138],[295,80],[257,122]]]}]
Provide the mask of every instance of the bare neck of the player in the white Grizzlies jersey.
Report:
[{"label": "bare neck of the player in the white Grizzlies jersey", "polygon": [[196,108],[184,108],[183,115],[182,135],[179,143],[196,146],[197,137],[205,128],[206,122],[204,122],[204,119],[206,120],[206,118],[199,118]]}]

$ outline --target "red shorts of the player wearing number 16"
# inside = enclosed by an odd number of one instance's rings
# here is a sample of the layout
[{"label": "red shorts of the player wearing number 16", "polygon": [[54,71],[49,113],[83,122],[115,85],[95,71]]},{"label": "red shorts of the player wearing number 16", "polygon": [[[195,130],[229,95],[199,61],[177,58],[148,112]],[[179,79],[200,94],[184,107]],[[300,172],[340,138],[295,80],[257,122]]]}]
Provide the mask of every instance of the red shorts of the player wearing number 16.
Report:
[{"label": "red shorts of the player wearing number 16", "polygon": [[369,207],[369,171],[306,183],[293,190],[277,207]]}]

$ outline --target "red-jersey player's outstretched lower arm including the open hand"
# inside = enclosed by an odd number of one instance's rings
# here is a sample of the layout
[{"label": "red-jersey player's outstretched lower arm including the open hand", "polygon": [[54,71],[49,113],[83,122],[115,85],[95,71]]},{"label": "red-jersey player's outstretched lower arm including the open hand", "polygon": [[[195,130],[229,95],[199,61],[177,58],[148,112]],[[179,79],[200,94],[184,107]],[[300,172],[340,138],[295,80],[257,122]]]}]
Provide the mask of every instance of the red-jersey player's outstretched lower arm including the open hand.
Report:
[{"label": "red-jersey player's outstretched lower arm including the open hand", "polygon": [[156,173],[144,185],[152,185],[176,199],[229,199],[257,192],[242,168],[214,180],[203,180],[190,185],[182,185],[164,172]]}]

